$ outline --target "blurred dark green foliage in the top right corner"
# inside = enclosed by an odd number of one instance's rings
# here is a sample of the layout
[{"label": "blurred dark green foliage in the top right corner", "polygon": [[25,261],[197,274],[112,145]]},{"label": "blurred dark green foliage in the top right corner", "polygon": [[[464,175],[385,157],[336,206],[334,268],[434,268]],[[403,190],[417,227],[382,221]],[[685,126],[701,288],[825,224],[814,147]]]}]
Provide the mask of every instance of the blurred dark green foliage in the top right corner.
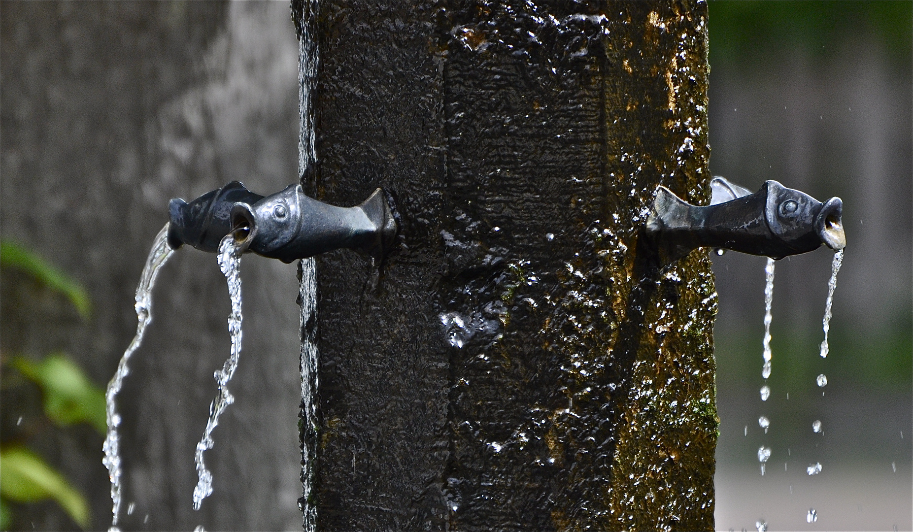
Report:
[{"label": "blurred dark green foliage in the top right corner", "polygon": [[[860,26],[866,26],[860,31]],[[779,43],[794,53],[823,57],[855,34],[875,36],[891,60],[909,64],[913,48],[913,2],[819,1],[770,2],[712,0],[709,2],[710,65],[727,68],[756,61],[759,47]]]}]

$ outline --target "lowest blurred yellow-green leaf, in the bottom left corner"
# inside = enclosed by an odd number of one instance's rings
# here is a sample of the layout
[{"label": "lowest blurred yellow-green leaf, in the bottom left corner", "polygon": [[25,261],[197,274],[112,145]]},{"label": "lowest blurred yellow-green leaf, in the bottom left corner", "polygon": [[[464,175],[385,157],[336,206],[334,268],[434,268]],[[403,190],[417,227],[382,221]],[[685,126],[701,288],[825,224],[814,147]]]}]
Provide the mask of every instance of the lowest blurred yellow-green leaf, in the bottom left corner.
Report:
[{"label": "lowest blurred yellow-green leaf, in the bottom left corner", "polygon": [[89,527],[86,499],[40,456],[26,448],[0,451],[0,495],[19,503],[54,499],[79,527]]}]

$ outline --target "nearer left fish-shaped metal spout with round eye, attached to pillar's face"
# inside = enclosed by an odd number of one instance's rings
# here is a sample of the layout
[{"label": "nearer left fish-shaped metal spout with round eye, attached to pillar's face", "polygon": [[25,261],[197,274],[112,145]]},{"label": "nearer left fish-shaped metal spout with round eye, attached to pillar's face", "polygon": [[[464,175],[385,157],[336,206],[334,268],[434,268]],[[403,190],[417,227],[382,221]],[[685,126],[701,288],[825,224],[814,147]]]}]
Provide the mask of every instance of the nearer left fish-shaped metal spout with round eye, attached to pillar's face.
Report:
[{"label": "nearer left fish-shaped metal spout with round eye, attached to pillar's face", "polygon": [[390,200],[377,189],[361,205],[335,207],[289,185],[257,203],[236,203],[232,230],[257,255],[291,262],[342,247],[380,260],[396,236]]}]

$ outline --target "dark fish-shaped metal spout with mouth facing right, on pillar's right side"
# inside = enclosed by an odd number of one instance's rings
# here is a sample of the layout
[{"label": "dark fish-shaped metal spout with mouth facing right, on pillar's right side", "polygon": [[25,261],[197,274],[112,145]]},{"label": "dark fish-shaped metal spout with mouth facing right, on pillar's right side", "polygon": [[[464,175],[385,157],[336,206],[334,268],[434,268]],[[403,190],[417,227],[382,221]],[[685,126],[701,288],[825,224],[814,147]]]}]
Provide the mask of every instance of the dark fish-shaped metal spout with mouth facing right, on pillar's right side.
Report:
[{"label": "dark fish-shaped metal spout with mouth facing right, on pillar's right side", "polygon": [[821,203],[775,181],[764,182],[756,193],[722,178],[714,178],[711,187],[719,203],[706,207],[685,202],[665,186],[656,188],[646,231],[664,262],[702,246],[781,259],[822,244],[834,250],[846,245],[840,198]]}]

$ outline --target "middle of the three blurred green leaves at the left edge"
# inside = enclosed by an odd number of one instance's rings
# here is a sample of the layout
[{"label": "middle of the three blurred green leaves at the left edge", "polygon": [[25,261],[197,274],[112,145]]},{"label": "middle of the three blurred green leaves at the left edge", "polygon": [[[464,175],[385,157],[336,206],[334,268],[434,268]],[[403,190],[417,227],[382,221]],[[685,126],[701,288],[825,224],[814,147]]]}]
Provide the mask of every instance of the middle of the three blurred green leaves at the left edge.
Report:
[{"label": "middle of the three blurred green leaves at the left edge", "polygon": [[41,387],[45,413],[52,421],[62,426],[88,422],[99,433],[107,432],[104,391],[67,357],[57,353],[38,363],[16,357],[13,365]]}]

